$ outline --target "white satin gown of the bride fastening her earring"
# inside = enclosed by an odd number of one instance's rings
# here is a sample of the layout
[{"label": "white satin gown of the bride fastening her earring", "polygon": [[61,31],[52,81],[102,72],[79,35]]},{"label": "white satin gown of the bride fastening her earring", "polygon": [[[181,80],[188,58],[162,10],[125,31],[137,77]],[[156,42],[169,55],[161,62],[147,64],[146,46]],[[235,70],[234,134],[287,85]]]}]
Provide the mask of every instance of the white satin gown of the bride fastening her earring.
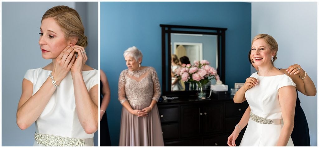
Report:
[{"label": "white satin gown of the bride fastening her earring", "polygon": [[[39,90],[51,72],[51,70],[45,70],[43,68],[29,69],[26,72],[24,78],[33,84],[32,95]],[[99,83],[98,70],[96,69],[82,71],[82,75],[87,90],[90,90],[94,85]],[[86,134],[78,119],[73,81],[70,72],[61,81],[59,86],[60,87],[56,89],[51,96],[39,118],[35,121],[35,133],[41,134],[41,136],[48,135],[47,137],[52,135],[62,138],[67,137],[65,138],[67,140],[68,138],[82,139],[85,142],[84,146],[94,146],[94,134]],[[48,142],[46,142],[46,144],[48,144]],[[43,145],[34,141],[33,146]]]}]

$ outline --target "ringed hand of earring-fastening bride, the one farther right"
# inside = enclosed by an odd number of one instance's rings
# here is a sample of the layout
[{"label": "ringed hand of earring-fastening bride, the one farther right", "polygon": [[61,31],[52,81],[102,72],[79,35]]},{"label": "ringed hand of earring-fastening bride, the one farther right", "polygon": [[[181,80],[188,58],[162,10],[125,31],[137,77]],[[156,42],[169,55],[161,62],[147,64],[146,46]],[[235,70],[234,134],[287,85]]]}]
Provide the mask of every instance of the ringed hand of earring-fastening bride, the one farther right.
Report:
[{"label": "ringed hand of earring-fastening bride, the one farther right", "polygon": [[76,58],[74,64],[71,67],[71,73],[73,72],[82,72],[83,66],[87,60],[87,56],[84,50],[84,47],[75,45],[74,51],[78,52],[78,58]]}]

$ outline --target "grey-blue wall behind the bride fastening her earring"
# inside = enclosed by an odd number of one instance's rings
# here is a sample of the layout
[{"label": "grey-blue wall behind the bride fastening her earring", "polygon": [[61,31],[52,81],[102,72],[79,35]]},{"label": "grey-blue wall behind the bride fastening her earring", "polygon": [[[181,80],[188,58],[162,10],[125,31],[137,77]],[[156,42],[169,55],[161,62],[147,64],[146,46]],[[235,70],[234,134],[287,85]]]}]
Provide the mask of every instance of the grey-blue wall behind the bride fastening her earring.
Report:
[{"label": "grey-blue wall behind the bride fastening her earring", "polygon": [[[98,69],[97,2],[2,2],[2,146],[33,145],[35,126],[19,129],[17,107],[26,71],[52,62],[41,57],[38,33],[42,15],[57,5],[69,6],[80,14],[88,38],[87,64]],[[94,144],[98,144],[97,135]]]}]

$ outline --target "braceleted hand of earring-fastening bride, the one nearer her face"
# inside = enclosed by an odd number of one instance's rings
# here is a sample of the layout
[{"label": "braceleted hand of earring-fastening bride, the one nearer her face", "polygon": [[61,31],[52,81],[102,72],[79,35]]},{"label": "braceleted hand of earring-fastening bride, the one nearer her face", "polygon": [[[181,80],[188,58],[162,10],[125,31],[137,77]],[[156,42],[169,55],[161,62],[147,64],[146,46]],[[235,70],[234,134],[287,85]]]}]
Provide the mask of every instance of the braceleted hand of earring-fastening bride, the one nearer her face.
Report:
[{"label": "braceleted hand of earring-fastening bride, the one nearer her face", "polygon": [[74,50],[66,46],[60,55],[53,60],[52,76],[57,85],[65,78],[75,61]]}]

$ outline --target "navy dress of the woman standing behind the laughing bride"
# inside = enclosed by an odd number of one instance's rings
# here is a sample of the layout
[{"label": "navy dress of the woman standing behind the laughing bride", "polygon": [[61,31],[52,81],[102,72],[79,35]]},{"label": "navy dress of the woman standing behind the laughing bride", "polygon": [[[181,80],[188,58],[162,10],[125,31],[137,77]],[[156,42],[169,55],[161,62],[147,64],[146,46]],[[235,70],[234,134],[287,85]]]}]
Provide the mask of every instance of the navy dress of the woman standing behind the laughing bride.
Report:
[{"label": "navy dress of the woman standing behind the laughing bride", "polygon": [[310,146],[310,136],[306,115],[300,106],[300,100],[297,92],[297,102],[295,109],[295,125],[291,133],[291,139],[294,146]]}]

